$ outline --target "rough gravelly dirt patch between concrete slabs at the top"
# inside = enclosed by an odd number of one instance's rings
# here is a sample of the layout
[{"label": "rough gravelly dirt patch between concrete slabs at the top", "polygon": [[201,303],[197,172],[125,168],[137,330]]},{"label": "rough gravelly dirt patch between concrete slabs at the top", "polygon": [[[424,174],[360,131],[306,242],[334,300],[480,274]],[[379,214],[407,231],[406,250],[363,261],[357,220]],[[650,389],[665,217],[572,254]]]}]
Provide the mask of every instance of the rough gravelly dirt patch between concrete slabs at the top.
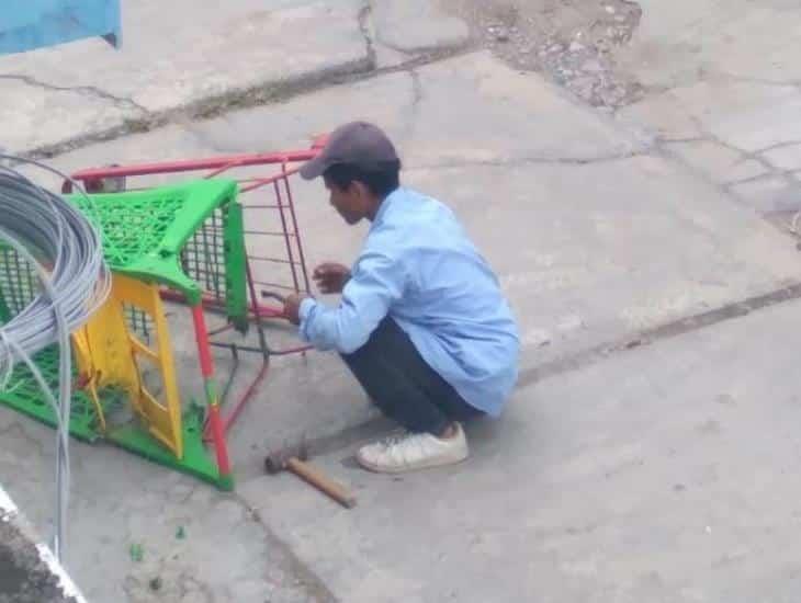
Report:
[{"label": "rough gravelly dirt patch between concrete slabs at the top", "polygon": [[539,71],[583,101],[617,109],[642,87],[616,68],[616,50],[640,24],[629,0],[440,0],[477,39],[517,69]]}]

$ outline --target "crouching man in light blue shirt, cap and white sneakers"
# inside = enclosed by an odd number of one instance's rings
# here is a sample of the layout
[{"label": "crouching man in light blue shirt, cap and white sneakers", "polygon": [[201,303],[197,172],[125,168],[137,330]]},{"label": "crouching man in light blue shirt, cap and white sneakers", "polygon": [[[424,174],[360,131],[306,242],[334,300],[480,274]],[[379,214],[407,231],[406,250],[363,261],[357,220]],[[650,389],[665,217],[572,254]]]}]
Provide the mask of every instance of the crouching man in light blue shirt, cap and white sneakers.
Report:
[{"label": "crouching man in light blue shirt, cap and white sneakers", "polygon": [[323,177],[349,225],[371,223],[353,269],[314,272],[337,307],[303,296],[285,303],[304,340],[336,350],[379,408],[404,429],[362,447],[366,469],[403,473],[464,460],[462,423],[497,417],[518,374],[519,337],[487,262],[453,213],[399,185],[400,161],[374,125],[341,126],[304,164]]}]

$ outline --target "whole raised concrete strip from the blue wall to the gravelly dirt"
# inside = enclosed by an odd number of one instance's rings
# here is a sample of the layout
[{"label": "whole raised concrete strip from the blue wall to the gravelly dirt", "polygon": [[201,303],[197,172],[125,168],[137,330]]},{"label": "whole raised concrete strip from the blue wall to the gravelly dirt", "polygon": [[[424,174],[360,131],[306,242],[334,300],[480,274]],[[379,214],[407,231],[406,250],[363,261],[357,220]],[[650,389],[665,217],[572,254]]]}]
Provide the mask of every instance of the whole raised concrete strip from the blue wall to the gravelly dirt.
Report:
[{"label": "whole raised concrete strip from the blue wall to the gravelly dirt", "polygon": [[0,57],[0,124],[14,124],[2,147],[64,152],[469,43],[426,4],[388,0],[373,20],[366,0],[126,3],[119,50],[88,39]]}]

